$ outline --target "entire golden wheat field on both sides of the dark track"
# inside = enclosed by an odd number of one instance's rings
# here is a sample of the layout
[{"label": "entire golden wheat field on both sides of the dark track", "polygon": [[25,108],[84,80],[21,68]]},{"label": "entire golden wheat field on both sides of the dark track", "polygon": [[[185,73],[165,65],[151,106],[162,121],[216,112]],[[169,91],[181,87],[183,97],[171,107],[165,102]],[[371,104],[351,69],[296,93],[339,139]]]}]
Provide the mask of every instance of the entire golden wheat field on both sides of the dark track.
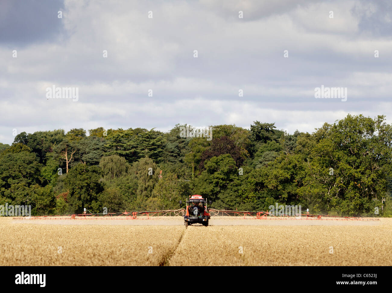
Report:
[{"label": "entire golden wheat field on both sides of the dark track", "polygon": [[167,225],[162,225],[162,218],[156,223],[135,221],[87,225],[81,220],[70,220],[77,224],[54,224],[56,220],[36,224],[31,220],[30,224],[1,217],[0,265],[392,265],[392,219],[314,222],[317,225],[306,220],[220,220],[214,225],[211,219],[209,227],[187,229],[181,218],[168,219]]}]

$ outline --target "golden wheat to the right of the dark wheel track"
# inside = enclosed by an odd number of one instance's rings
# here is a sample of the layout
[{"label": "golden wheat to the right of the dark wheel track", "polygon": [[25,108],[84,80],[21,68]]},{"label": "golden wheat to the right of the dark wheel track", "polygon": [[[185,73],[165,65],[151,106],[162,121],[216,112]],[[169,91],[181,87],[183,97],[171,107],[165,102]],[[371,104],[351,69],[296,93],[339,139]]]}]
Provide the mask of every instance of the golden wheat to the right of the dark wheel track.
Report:
[{"label": "golden wheat to the right of the dark wheel track", "polygon": [[391,266],[392,225],[191,226],[169,265]]}]

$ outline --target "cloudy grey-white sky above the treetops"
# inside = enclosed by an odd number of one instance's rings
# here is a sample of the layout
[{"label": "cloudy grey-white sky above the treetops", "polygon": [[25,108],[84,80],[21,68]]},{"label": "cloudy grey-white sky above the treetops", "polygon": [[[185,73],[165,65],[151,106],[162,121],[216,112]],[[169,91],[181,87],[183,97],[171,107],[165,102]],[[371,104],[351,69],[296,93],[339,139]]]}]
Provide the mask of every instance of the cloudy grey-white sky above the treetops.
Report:
[{"label": "cloudy grey-white sky above the treetops", "polygon": [[[0,142],[256,120],[312,133],[348,114],[391,123],[391,54],[389,0],[1,0]],[[321,86],[346,99],[315,98]]]}]

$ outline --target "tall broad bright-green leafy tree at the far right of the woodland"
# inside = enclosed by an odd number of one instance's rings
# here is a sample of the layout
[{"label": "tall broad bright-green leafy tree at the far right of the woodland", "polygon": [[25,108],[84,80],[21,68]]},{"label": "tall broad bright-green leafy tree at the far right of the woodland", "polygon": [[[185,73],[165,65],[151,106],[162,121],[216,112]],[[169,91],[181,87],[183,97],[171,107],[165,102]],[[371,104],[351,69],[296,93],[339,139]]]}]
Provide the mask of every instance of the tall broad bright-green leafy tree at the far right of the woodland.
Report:
[{"label": "tall broad bright-green leafy tree at the far right of the woodland", "polygon": [[314,137],[309,173],[325,186],[318,208],[344,215],[372,211],[392,172],[392,128],[385,116],[348,115],[325,124]]}]

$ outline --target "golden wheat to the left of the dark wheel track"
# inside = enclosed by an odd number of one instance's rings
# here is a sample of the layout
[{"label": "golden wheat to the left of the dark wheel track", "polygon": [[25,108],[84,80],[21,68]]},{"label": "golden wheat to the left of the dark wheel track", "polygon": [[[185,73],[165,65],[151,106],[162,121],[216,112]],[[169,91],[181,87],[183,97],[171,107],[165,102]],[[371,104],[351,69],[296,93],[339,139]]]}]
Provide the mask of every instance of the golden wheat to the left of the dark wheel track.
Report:
[{"label": "golden wheat to the left of the dark wheel track", "polygon": [[1,266],[158,266],[185,230],[183,226],[40,225],[7,220],[0,220]]}]

